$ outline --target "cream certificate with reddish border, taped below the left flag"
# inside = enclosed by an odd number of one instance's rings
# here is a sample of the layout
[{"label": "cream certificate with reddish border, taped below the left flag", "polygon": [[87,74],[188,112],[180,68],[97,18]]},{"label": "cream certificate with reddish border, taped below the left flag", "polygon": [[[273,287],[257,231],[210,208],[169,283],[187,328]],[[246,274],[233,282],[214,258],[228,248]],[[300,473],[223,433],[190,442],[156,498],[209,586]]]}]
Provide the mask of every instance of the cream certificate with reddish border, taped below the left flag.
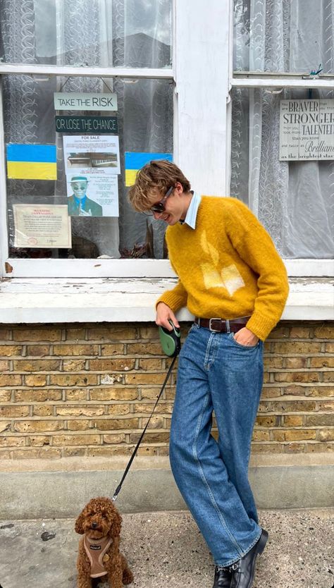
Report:
[{"label": "cream certificate with reddish border, taped below the left flag", "polygon": [[14,247],[70,248],[70,218],[66,204],[13,204]]}]

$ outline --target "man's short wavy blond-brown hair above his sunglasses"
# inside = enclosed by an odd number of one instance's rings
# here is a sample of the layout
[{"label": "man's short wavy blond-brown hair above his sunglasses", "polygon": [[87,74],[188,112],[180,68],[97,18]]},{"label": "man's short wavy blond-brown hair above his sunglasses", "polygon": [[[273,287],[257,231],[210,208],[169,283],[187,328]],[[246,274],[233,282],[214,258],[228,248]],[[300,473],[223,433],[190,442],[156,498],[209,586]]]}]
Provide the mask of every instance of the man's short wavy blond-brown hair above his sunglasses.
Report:
[{"label": "man's short wavy blond-brown hair above his sunglasses", "polygon": [[152,192],[161,193],[161,198],[168,188],[180,182],[185,192],[190,191],[190,181],[183,175],[178,166],[166,159],[150,161],[137,173],[134,185],[129,190],[129,200],[137,212],[151,207]]}]

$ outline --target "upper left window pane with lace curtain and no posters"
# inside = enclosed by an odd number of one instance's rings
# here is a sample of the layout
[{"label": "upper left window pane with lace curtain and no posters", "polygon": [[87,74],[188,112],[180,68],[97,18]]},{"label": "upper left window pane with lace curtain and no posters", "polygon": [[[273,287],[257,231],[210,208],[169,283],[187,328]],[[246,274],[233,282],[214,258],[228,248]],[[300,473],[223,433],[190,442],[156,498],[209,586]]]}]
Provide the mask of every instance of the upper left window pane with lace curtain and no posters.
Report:
[{"label": "upper left window pane with lace curtain and no posters", "polygon": [[0,0],[0,61],[171,66],[171,0]]}]

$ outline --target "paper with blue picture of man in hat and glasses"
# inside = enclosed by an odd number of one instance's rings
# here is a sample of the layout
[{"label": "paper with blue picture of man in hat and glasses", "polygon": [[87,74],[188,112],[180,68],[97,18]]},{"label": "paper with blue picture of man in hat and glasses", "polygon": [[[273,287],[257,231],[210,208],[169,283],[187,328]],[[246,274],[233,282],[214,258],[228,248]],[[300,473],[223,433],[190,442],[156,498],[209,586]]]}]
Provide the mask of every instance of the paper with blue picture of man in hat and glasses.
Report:
[{"label": "paper with blue picture of man in hat and glasses", "polygon": [[118,176],[67,176],[69,216],[118,216]]}]

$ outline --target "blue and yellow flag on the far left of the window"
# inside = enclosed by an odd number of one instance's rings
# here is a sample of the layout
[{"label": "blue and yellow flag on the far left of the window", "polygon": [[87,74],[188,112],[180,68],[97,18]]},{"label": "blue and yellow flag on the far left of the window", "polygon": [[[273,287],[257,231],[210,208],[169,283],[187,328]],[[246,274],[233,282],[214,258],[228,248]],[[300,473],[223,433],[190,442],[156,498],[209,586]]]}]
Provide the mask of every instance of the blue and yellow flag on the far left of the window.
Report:
[{"label": "blue and yellow flag on the far left of the window", "polygon": [[56,180],[56,145],[7,145],[7,176],[16,180]]}]

